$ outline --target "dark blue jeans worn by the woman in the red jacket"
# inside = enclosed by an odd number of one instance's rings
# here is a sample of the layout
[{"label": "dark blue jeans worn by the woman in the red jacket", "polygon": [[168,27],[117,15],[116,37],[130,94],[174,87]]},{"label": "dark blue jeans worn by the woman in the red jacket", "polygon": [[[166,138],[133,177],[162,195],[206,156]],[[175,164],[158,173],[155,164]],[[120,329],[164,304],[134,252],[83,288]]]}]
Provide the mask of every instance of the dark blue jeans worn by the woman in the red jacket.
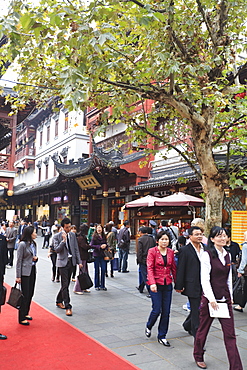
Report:
[{"label": "dark blue jeans worn by the woman in the red jacket", "polygon": [[152,329],[159,315],[160,322],[158,326],[158,339],[166,337],[169,325],[170,308],[172,301],[172,284],[159,286],[156,293],[150,290],[152,299],[152,311],[149,315],[147,328]]}]

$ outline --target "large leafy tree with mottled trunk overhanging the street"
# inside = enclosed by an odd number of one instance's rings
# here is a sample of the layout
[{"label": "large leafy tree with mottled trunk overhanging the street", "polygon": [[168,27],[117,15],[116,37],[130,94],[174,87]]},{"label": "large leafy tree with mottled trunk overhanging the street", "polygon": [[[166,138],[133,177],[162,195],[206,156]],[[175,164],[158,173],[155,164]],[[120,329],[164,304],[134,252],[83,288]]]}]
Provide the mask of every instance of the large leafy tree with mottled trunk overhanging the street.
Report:
[{"label": "large leafy tree with mottled trunk overhanging the street", "polygon": [[[210,227],[221,224],[224,187],[244,186],[244,169],[229,159],[246,149],[246,10],[245,0],[16,0],[0,37],[5,60],[21,66],[20,99],[111,106],[107,124],[124,119],[135,141],[151,136],[156,150],[181,155],[202,185]],[[145,99],[153,112],[133,114]]]}]

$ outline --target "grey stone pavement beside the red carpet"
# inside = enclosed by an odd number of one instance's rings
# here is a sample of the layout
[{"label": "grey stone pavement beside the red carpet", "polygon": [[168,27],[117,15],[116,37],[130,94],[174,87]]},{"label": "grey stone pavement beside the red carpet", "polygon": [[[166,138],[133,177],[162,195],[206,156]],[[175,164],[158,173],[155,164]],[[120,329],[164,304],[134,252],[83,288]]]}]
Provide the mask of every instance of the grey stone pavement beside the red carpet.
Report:
[{"label": "grey stone pavement beside the red carpet", "polygon": [[[152,330],[151,338],[145,337],[144,328],[150,313],[151,300],[146,297],[146,294],[140,294],[136,289],[138,268],[135,262],[134,247],[129,255],[130,272],[128,274],[115,272],[114,278],[106,278],[107,292],[95,291],[92,288],[90,294],[76,295],[73,293],[74,283],[71,283],[73,316],[66,317],[64,310],[55,305],[60,284],[51,281],[51,261],[47,257],[47,249],[41,249],[43,241],[41,237],[38,237],[37,241],[39,262],[35,302],[87,333],[142,370],[190,370],[197,368],[192,357],[193,337],[188,335],[181,326],[187,315],[187,312],[182,309],[186,298],[175,291],[167,335],[171,347],[166,348],[157,342],[157,324]],[[93,279],[93,264],[89,265],[89,269]],[[6,283],[12,286],[14,279],[15,269],[8,269],[5,275]],[[234,312],[234,316],[237,344],[243,367],[247,369],[247,307],[244,313]],[[4,319],[4,309],[1,319]],[[4,334],[8,335],[8,333]],[[218,320],[214,321],[208,335],[205,361],[208,369],[228,369]]]}]

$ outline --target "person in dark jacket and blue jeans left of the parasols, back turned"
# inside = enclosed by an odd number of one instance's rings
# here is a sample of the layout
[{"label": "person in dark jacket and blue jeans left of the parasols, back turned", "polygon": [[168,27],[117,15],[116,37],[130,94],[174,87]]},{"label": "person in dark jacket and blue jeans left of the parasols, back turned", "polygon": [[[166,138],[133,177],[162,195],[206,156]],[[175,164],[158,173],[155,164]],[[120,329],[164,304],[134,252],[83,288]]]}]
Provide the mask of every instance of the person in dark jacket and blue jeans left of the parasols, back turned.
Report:
[{"label": "person in dark jacket and blue jeans left of the parasols, back turned", "polygon": [[123,228],[118,233],[118,255],[119,255],[119,266],[118,272],[129,272],[128,267],[128,256],[130,249],[130,232],[129,232],[129,221],[124,221]]}]

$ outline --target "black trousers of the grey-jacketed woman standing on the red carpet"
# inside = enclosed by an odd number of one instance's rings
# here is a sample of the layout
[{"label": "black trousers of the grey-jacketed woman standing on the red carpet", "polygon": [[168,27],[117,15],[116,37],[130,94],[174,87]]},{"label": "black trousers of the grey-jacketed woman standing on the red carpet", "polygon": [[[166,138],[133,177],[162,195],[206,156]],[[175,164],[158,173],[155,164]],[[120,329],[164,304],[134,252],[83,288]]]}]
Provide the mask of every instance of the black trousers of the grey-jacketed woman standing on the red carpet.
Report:
[{"label": "black trousers of the grey-jacketed woman standing on the red carpet", "polygon": [[26,320],[29,314],[32,297],[34,294],[34,287],[36,281],[36,266],[32,266],[30,276],[21,276],[21,290],[23,299],[21,308],[19,309],[19,322]]}]

